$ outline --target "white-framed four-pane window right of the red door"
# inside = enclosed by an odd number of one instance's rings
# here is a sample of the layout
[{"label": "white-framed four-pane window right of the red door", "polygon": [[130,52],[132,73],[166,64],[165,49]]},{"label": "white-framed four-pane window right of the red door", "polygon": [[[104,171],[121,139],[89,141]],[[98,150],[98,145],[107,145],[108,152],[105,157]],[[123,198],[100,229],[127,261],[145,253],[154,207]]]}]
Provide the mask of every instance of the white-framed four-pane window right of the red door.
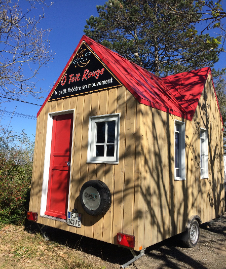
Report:
[{"label": "white-framed four-pane window right of the red door", "polygon": [[120,113],[90,117],[88,163],[119,163]]}]

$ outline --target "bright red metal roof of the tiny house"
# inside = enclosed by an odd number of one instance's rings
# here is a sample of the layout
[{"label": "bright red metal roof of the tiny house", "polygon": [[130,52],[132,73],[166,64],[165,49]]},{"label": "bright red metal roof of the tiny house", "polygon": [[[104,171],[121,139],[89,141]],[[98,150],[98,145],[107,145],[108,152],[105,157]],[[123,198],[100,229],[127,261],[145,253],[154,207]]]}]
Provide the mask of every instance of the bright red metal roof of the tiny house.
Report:
[{"label": "bright red metal roof of the tiny house", "polygon": [[85,35],[80,40],[37,116],[39,116],[56,85],[61,80],[64,71],[69,66],[82,42],[85,42],[93,50],[140,103],[192,120],[204,89],[205,81],[209,72],[211,72],[209,67],[170,75],[161,79]]}]

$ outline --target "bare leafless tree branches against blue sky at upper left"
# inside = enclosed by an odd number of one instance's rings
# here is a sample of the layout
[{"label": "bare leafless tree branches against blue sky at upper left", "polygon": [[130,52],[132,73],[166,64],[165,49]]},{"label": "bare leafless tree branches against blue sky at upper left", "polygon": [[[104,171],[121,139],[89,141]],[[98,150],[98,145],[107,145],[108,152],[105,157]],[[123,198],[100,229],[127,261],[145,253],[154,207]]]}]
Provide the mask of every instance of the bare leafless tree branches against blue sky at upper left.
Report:
[{"label": "bare leafless tree branches against blue sky at upper left", "polygon": [[[38,0],[45,4],[45,0]],[[35,76],[39,69],[52,59],[48,35],[37,24],[44,18],[31,18],[35,9],[32,0],[23,2],[28,9],[22,11],[19,0],[0,0],[0,87],[1,94],[8,97],[36,96]]]}]

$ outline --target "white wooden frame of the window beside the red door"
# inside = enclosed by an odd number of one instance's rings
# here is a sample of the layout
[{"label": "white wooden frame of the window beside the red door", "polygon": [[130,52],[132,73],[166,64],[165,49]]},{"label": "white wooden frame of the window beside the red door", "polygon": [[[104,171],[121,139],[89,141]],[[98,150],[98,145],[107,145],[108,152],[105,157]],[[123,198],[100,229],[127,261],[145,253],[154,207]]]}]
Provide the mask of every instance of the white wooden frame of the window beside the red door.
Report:
[{"label": "white wooden frame of the window beside the red door", "polygon": [[[114,157],[96,157],[95,156],[95,148],[96,148],[95,143],[96,143],[96,133],[97,133],[96,123],[108,122],[108,121],[116,121]],[[87,163],[118,164],[119,163],[119,133],[120,133],[120,113],[90,117],[89,118],[89,133],[88,133]],[[106,140],[106,136],[105,136],[105,140]],[[106,141],[104,144],[107,144]]]}]

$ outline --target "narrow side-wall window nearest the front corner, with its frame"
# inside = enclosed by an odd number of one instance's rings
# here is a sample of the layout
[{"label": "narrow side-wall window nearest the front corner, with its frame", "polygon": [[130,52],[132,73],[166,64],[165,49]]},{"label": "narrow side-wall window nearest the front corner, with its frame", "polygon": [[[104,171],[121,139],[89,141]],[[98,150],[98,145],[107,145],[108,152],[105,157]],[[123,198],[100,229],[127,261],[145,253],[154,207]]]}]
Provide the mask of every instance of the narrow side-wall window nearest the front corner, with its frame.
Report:
[{"label": "narrow side-wall window nearest the front corner, with its frame", "polygon": [[185,180],[185,124],[175,121],[174,178]]}]

